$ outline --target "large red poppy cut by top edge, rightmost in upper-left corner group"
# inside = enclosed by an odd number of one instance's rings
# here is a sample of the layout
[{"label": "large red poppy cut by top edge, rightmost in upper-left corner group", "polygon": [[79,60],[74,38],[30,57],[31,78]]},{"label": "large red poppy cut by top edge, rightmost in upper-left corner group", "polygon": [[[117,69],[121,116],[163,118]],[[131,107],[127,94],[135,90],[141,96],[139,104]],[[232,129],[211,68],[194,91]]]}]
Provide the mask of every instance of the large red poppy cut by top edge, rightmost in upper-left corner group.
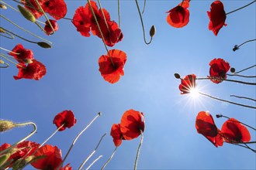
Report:
[{"label": "large red poppy cut by top edge, rightmost in upper-left corner group", "polygon": [[54,19],[62,19],[67,14],[67,5],[64,0],[40,0],[44,12],[54,17]]}]

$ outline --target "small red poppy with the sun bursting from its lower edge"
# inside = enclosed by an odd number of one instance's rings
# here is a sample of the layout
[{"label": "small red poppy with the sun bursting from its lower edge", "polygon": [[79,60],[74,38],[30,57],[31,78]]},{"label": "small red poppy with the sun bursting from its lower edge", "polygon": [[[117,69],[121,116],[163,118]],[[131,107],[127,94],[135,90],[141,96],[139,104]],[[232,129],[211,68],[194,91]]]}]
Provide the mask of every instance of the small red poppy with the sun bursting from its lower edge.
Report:
[{"label": "small red poppy with the sun bursting from its lower edge", "polygon": [[189,74],[182,79],[182,83],[178,87],[182,91],[181,94],[190,93],[190,90],[195,88],[195,78],[195,74]]}]

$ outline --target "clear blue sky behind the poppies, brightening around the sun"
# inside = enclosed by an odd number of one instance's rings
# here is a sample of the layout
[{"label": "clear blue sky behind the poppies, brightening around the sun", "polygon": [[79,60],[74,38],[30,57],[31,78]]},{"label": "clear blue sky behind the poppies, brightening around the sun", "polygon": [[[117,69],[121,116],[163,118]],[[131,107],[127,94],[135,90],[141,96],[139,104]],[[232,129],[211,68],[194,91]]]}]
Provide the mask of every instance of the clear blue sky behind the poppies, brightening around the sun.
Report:
[{"label": "clear blue sky behind the poppies, brightening around the sun", "polygon": [[[16,2],[4,1],[13,6]],[[73,18],[79,6],[86,1],[65,1],[67,18]],[[20,26],[43,36],[53,43],[53,48],[42,49],[35,44],[15,38],[1,38],[1,47],[13,49],[18,43],[32,49],[37,60],[47,66],[47,74],[41,80],[14,80],[18,73],[16,66],[1,69],[1,119],[14,122],[33,121],[37,133],[29,140],[42,143],[56,130],[52,123],[55,115],[63,110],[73,110],[77,124],[71,129],[58,132],[47,144],[57,145],[62,155],[67,153],[76,135],[101,111],[100,116],[77,141],[66,162],[73,169],[90,155],[102,134],[107,133],[95,155],[85,164],[85,168],[99,155],[103,157],[92,166],[99,169],[111,155],[115,146],[110,136],[112,124],[118,124],[126,110],[139,110],[145,115],[144,143],[140,150],[139,169],[255,169],[256,156],[252,151],[224,143],[215,148],[195,129],[195,117],[201,110],[213,115],[218,128],[225,118],[217,119],[215,114],[234,117],[255,128],[255,110],[239,107],[207,97],[192,99],[181,95],[178,90],[182,77],[194,73],[198,77],[209,76],[209,62],[223,58],[231,67],[242,70],[256,63],[255,42],[250,42],[234,52],[234,45],[248,39],[255,39],[255,3],[240,11],[227,15],[227,26],[220,29],[218,36],[209,31],[209,11],[213,1],[191,1],[190,21],[182,29],[168,25],[166,16],[171,8],[182,1],[148,0],[143,15],[147,41],[150,26],[157,32],[150,45],[144,44],[142,27],[136,3],[132,0],[120,1],[121,29],[124,38],[109,49],[123,50],[127,55],[125,75],[118,83],[110,84],[99,73],[99,56],[106,54],[102,40],[96,36],[83,37],[71,21],[61,19],[59,30],[46,36],[35,25],[22,18],[11,8],[1,9],[5,15]],[[226,12],[233,11],[251,1],[223,0]],[[140,8],[143,1],[140,1]],[[117,1],[102,0],[111,19],[118,22]],[[39,19],[45,22],[42,17]],[[39,41],[22,32],[1,18],[1,26],[19,35]],[[1,53],[6,53],[1,50]],[[243,74],[255,75],[255,67]],[[236,77],[228,77],[234,79]],[[255,82],[255,79],[240,79]],[[242,104],[254,105],[250,100],[230,97],[230,94],[255,98],[255,86],[223,82],[214,84],[209,80],[198,80],[201,92]],[[32,127],[15,128],[1,134],[0,144],[13,144],[32,131]],[[255,131],[251,141],[256,141]],[[109,162],[109,169],[131,169],[137,154],[140,137],[123,141],[116,155]],[[251,145],[251,148],[256,148]],[[31,166],[27,168],[32,168]]]}]

